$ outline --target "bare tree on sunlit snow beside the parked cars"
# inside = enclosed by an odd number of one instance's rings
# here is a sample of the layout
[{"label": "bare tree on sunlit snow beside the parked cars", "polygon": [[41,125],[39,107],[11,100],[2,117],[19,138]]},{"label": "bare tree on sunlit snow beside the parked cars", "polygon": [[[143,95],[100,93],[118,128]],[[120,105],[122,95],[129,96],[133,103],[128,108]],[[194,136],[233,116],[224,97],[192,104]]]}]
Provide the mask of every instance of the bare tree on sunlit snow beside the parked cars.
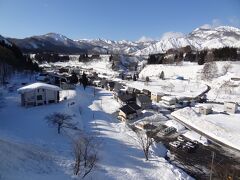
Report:
[{"label": "bare tree on sunlit snow beside the parked cars", "polygon": [[148,157],[149,157],[149,149],[151,147],[151,145],[153,144],[153,139],[151,137],[149,137],[145,131],[142,130],[136,130],[136,134],[137,134],[137,141],[141,147],[141,149],[143,150],[144,156],[146,161],[148,161]]}]

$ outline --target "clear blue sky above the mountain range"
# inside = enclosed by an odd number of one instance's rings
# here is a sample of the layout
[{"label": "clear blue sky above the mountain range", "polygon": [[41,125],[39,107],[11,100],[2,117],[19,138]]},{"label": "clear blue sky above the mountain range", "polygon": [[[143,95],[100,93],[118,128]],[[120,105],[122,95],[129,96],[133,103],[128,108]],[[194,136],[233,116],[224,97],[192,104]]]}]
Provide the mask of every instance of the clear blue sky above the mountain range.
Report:
[{"label": "clear blue sky above the mountain range", "polygon": [[240,27],[240,0],[0,0],[0,34],[72,39],[159,39],[165,32]]}]

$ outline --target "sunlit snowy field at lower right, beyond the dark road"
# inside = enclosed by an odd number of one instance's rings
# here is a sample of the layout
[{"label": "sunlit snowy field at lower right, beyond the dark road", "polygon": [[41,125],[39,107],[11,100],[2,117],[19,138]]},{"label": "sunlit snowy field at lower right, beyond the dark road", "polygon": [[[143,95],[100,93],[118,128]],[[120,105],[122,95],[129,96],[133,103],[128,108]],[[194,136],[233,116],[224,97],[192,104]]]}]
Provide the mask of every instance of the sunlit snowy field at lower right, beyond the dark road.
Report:
[{"label": "sunlit snowy field at lower right, beyond the dark road", "polygon": [[213,113],[201,115],[198,108],[177,110],[172,116],[204,134],[223,142],[224,144],[240,150],[240,113],[222,114],[223,105],[213,105]]}]

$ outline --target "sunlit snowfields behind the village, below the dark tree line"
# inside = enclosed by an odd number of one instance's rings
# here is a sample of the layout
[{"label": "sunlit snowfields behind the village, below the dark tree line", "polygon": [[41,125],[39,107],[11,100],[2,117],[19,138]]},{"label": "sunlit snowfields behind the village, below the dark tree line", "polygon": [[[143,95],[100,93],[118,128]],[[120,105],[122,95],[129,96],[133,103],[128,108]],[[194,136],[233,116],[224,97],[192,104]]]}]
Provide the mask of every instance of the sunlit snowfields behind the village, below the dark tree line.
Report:
[{"label": "sunlit snowfields behind the village, below the dark tree line", "polygon": [[[100,74],[105,74],[104,77],[121,81],[121,79],[114,78],[119,73],[111,69],[111,63],[109,62],[109,55],[101,55],[100,60],[93,60],[88,63],[79,62],[75,56],[71,57],[68,62],[56,62],[54,65],[58,66],[72,66],[82,68],[93,68],[94,71]],[[139,62],[140,64],[142,61]],[[231,64],[231,68],[228,73],[223,74],[223,66],[225,64]],[[52,63],[50,63],[52,64]],[[49,64],[42,64],[48,66]],[[195,97],[201,92],[206,90],[206,85],[211,87],[211,90],[207,93],[209,100],[224,102],[234,101],[240,103],[240,81],[231,81],[231,78],[240,77],[240,62],[217,62],[218,72],[216,77],[212,81],[201,80],[201,72],[203,65],[197,63],[184,62],[182,65],[169,65],[169,64],[154,64],[146,65],[146,67],[140,72],[140,79],[145,80],[148,76],[150,82],[146,85],[143,81],[124,81],[127,85],[138,88],[148,89],[153,92],[163,92],[166,94],[176,96]],[[164,71],[166,80],[160,80],[159,75]],[[100,75],[102,76],[102,75]],[[183,76],[184,81],[176,80],[177,76]],[[229,81],[232,88],[225,88],[223,85]]]}]

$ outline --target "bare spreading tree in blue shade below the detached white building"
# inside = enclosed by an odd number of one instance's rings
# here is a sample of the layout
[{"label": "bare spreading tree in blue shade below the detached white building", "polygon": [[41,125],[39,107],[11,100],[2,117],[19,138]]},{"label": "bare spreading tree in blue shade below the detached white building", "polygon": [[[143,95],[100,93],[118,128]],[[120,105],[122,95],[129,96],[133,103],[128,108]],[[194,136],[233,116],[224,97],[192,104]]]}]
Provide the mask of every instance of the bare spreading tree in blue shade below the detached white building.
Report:
[{"label": "bare spreading tree in blue shade below the detached white building", "polygon": [[60,134],[62,128],[76,129],[76,124],[72,122],[72,116],[68,114],[55,112],[45,118],[49,125],[57,126],[58,134]]}]

